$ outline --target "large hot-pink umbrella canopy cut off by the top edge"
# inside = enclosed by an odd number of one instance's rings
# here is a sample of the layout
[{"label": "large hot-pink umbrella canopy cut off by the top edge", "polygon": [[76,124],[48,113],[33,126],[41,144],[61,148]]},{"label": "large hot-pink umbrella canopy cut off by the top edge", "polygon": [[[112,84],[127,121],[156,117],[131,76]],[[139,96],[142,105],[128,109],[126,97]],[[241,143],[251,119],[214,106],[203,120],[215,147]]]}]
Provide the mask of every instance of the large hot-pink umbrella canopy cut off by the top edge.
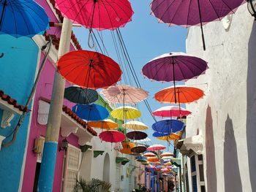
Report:
[{"label": "large hot-pink umbrella canopy cut off by the top edge", "polygon": [[127,0],[56,0],[64,17],[86,28],[116,29],[132,20],[132,7]]}]

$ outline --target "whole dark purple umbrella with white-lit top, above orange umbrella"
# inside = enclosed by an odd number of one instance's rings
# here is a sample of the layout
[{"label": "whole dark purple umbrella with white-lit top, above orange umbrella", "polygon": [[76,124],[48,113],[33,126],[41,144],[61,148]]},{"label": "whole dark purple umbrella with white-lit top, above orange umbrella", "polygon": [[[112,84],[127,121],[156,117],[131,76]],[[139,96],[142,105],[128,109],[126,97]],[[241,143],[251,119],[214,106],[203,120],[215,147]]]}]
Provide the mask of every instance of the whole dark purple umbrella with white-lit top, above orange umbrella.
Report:
[{"label": "whole dark purple umbrella with white-lit top, above orange umbrella", "polygon": [[207,62],[201,58],[186,53],[166,53],[149,61],[143,66],[142,73],[151,80],[173,82],[176,88],[176,81],[196,78],[206,69]]}]

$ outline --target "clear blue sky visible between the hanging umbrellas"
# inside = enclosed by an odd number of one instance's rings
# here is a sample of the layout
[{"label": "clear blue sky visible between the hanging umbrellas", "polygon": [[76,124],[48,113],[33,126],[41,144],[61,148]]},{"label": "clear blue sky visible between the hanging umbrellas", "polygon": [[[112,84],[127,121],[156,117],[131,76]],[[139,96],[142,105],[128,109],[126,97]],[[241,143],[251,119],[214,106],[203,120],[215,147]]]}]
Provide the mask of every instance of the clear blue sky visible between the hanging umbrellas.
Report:
[{"label": "clear blue sky visible between the hanging umbrellas", "polygon": [[[135,12],[132,16],[132,22],[127,23],[124,28],[120,28],[120,31],[140,84],[149,92],[148,103],[151,106],[151,110],[154,111],[163,106],[163,104],[153,99],[154,93],[173,84],[168,82],[151,82],[140,74],[141,68],[158,55],[170,52],[185,52],[187,28],[178,26],[168,27],[165,23],[158,23],[157,18],[150,15],[150,3],[151,1],[149,0],[132,0],[132,9]],[[83,49],[91,50],[87,45],[88,29],[73,29]],[[95,31],[94,33],[96,34],[97,32]],[[118,63],[118,57],[113,47],[113,38],[111,37],[110,31],[101,31],[99,34],[102,36],[104,45],[109,53],[108,55]],[[127,74],[126,76],[128,78]],[[134,83],[132,84],[135,86]],[[142,112],[140,120],[143,120],[143,123],[149,126],[148,131],[146,131],[148,137],[152,139],[153,143],[167,145],[167,142],[160,142],[152,138],[153,131],[151,125],[154,123],[154,120],[151,118],[145,104],[143,102],[138,104],[138,108]],[[157,118],[157,120],[161,119]]]}]

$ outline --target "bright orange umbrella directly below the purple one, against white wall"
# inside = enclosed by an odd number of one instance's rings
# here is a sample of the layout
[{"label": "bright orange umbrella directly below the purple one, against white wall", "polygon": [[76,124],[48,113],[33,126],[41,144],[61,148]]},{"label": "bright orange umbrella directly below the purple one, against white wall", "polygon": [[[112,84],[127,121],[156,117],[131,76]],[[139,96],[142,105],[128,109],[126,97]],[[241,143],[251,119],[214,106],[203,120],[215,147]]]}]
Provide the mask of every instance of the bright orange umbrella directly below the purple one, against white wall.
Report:
[{"label": "bright orange umbrella directly below the purple one, against white wall", "polygon": [[[176,91],[174,90],[176,89]],[[188,86],[176,86],[165,88],[154,95],[154,99],[162,103],[175,103],[175,95],[178,103],[185,104],[193,101],[197,101],[203,97],[203,91],[199,88],[193,88]]]}]

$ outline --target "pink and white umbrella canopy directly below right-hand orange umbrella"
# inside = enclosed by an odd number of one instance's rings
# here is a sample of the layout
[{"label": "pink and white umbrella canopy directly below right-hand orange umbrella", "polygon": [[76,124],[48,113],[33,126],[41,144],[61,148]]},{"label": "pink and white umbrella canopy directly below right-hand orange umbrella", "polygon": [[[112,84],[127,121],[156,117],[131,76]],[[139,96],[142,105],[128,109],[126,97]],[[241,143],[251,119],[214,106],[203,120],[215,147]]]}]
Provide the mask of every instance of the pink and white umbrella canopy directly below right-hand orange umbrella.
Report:
[{"label": "pink and white umbrella canopy directly below right-hand orange umbrella", "polygon": [[191,112],[189,112],[188,110],[185,110],[182,107],[165,106],[155,110],[154,112],[152,112],[152,114],[157,117],[166,118],[166,117],[187,116],[187,115],[190,115]]}]

